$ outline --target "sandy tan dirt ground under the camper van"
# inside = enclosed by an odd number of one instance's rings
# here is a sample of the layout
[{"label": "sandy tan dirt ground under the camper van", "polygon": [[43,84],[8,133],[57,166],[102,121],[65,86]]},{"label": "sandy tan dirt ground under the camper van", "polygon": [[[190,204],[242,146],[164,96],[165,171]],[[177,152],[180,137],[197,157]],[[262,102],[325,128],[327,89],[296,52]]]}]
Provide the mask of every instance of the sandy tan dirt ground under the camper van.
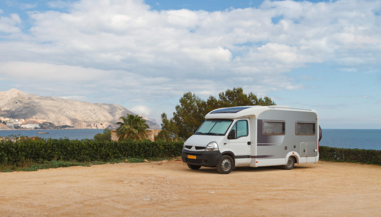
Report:
[{"label": "sandy tan dirt ground under the camper van", "polygon": [[381,167],[190,170],[181,161],[0,173],[1,216],[381,216]]}]

